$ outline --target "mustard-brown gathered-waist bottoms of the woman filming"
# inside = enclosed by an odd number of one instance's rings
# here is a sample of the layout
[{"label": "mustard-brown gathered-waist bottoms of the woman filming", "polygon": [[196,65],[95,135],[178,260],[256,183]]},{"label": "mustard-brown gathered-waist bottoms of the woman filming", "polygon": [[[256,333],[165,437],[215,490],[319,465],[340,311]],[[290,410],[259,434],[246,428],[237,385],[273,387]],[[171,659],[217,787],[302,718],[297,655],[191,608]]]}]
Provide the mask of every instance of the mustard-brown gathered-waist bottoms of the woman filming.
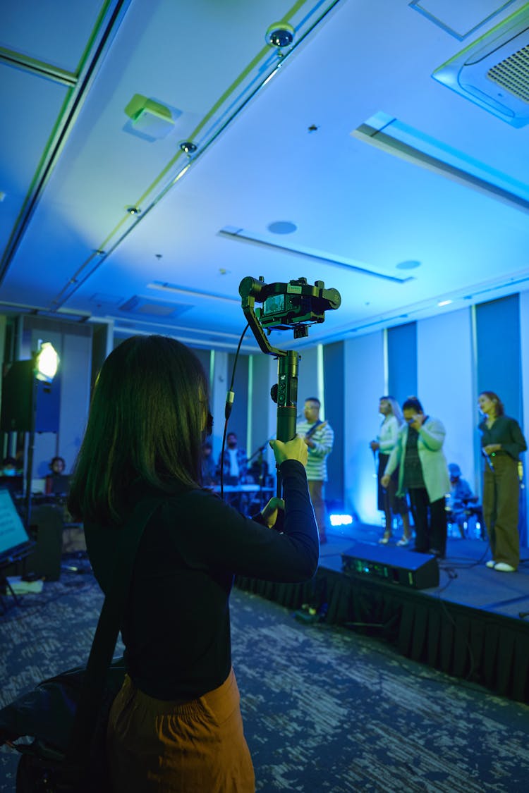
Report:
[{"label": "mustard-brown gathered-waist bottoms of the woman filming", "polygon": [[107,754],[114,793],[254,793],[233,669],[214,691],[165,702],[125,683],[113,702]]}]

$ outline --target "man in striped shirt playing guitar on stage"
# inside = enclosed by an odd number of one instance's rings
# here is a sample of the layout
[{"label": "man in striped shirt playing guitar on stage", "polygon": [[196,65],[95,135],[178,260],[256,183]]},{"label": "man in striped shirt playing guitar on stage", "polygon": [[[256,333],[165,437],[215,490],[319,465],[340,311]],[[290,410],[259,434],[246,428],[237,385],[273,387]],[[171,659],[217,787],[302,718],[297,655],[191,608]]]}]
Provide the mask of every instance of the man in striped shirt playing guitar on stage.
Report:
[{"label": "man in striped shirt playing guitar on stage", "polygon": [[327,458],[332,452],[334,432],[328,421],[320,419],[321,403],[316,397],[305,400],[305,421],[298,423],[297,434],[304,439],[309,450],[307,479],[309,493],[316,515],[320,544],[327,542],[327,507],[325,506],[325,482],[327,481]]}]

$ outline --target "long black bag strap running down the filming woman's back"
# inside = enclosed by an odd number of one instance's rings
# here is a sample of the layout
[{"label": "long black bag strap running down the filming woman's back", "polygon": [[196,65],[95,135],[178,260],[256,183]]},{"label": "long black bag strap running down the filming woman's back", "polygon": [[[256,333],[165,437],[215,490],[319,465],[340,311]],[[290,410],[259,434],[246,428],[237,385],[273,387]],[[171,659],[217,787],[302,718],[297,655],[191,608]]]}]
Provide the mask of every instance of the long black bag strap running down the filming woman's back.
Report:
[{"label": "long black bag strap running down the filming woman's back", "polygon": [[136,551],[140,545],[144,528],[163,501],[164,499],[161,498],[152,498],[136,504],[131,517],[120,531],[121,536],[116,547],[112,583],[105,595],[99,615],[98,627],[90,649],[82,681],[82,691],[71,727],[67,760],[74,764],[82,763],[90,752],[90,743],[105,691],[106,672],[112,661],[121,620],[125,614]]}]

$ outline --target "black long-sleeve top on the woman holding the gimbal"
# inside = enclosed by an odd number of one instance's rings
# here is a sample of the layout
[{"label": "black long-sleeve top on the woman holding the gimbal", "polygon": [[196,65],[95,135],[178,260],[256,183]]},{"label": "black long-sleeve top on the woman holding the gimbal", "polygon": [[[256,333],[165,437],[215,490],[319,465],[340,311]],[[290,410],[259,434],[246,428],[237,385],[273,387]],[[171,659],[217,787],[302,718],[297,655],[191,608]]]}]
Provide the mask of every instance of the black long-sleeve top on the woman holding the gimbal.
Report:
[{"label": "black long-sleeve top on the woman holding the gimbal", "polygon": [[[228,598],[236,574],[308,580],[319,543],[305,468],[281,465],[283,533],[241,515],[206,490],[167,496],[140,540],[121,627],[128,673],[156,699],[194,699],[224,682],[232,664]],[[161,496],[144,488],[142,497]],[[85,525],[105,592],[119,530]]]}]

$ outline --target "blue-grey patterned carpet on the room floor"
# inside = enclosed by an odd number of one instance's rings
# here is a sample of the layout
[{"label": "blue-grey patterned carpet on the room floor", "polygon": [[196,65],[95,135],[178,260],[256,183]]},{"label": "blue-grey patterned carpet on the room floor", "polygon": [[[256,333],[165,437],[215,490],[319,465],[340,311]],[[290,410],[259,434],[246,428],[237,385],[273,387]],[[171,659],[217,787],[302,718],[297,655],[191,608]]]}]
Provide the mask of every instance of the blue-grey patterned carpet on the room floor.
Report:
[{"label": "blue-grey patterned carpet on the room floor", "polygon": [[[63,573],[0,617],[0,705],[86,660],[101,602]],[[239,590],[232,638],[258,791],[527,791],[529,707]],[[16,764],[0,749],[0,791]]]}]

